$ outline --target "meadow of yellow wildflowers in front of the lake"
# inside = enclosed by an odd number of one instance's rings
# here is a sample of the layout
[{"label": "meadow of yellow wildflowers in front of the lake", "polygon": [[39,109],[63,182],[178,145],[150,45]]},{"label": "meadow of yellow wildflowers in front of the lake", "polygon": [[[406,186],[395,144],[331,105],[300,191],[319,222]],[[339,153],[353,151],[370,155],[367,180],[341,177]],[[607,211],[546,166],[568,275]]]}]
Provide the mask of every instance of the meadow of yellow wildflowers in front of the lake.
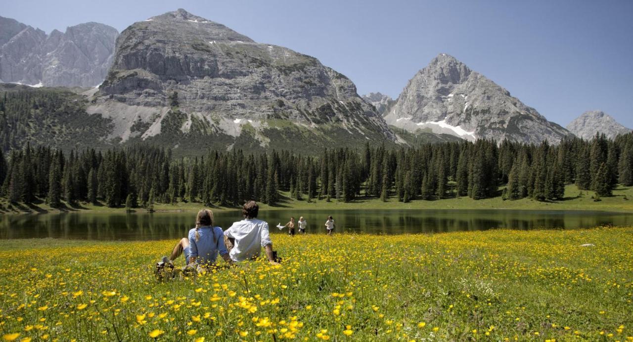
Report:
[{"label": "meadow of yellow wildflowers in front of the lake", "polygon": [[173,241],[0,241],[0,336],[633,340],[631,227],[273,238],[279,266],[168,281]]}]

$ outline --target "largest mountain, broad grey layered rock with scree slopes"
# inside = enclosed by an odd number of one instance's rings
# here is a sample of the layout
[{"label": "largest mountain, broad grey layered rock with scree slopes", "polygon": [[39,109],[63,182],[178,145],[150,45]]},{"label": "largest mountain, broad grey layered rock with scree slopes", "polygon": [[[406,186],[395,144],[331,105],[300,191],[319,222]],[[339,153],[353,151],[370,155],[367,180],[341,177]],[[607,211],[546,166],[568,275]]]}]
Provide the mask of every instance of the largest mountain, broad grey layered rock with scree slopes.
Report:
[{"label": "largest mountain, broad grey layered rock with scree slopes", "polygon": [[184,9],[121,33],[93,102],[89,113],[115,122],[110,138],[179,148],[300,149],[305,142],[315,149],[396,139],[346,76]]}]

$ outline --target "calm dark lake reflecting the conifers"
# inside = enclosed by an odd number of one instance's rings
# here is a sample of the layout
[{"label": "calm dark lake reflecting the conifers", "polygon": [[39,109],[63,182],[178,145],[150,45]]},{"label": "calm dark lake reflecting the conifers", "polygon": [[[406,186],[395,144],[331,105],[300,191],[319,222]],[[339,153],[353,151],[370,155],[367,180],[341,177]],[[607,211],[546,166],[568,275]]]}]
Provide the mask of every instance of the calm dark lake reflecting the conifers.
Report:
[{"label": "calm dark lake reflecting the conifers", "polygon": [[[325,234],[325,219],[334,216],[336,231],[371,234],[441,233],[493,228],[573,229],[605,224],[633,225],[633,214],[592,211],[517,210],[339,210],[263,211],[260,219],[271,233],[291,216],[304,216],[306,231]],[[132,214],[20,214],[0,217],[0,238],[63,238],[82,240],[161,240],[186,236],[195,225],[195,213],[157,212]],[[241,219],[240,211],[216,212],[215,225],[229,228]]]}]

